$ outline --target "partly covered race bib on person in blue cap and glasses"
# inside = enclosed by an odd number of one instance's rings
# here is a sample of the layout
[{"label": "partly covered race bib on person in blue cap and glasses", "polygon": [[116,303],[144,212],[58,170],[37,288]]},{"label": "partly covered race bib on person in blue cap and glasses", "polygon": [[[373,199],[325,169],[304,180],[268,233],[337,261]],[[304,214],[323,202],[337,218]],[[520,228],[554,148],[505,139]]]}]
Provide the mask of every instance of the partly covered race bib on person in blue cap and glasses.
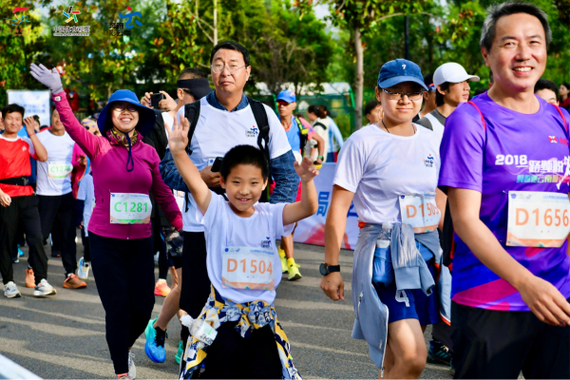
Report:
[{"label": "partly covered race bib on person in blue cap and glasses", "polygon": [[401,195],[402,223],[409,224],[417,234],[435,231],[441,212],[435,204],[435,193]]}]

